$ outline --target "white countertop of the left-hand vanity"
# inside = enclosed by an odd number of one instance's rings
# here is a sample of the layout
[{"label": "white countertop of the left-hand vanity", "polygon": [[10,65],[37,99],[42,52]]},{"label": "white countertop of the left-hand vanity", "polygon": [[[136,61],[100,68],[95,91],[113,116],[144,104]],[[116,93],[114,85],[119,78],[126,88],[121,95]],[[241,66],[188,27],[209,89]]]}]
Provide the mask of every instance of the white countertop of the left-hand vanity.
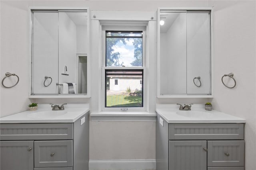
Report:
[{"label": "white countertop of the left-hand vanity", "polygon": [[[89,111],[88,104],[68,104],[64,107],[63,111],[52,111],[49,104],[39,104],[36,111],[23,111],[1,117],[0,123],[73,123]],[[44,113],[50,116],[45,116]]]}]

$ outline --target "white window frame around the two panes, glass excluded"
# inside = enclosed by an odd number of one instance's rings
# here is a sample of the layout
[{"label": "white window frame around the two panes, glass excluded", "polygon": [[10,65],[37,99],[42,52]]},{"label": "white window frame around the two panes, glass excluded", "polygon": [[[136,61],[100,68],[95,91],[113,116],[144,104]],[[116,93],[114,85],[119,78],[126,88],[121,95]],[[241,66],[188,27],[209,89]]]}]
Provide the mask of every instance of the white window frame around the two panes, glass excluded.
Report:
[{"label": "white window frame around the two panes, glass excluded", "polygon": [[[102,103],[102,111],[121,111],[121,109],[127,109],[127,111],[147,111],[148,108],[148,94],[147,94],[147,25],[141,25],[141,22],[131,21],[130,25],[127,25],[127,22],[124,25],[123,21],[115,21],[115,22],[107,22],[104,21],[104,25],[102,26],[102,92],[101,92],[101,103]],[[142,67],[141,66],[106,66],[106,31],[142,31]],[[106,70],[122,70],[122,69],[132,69],[132,70],[143,70],[143,107],[105,107],[105,72]]]}]

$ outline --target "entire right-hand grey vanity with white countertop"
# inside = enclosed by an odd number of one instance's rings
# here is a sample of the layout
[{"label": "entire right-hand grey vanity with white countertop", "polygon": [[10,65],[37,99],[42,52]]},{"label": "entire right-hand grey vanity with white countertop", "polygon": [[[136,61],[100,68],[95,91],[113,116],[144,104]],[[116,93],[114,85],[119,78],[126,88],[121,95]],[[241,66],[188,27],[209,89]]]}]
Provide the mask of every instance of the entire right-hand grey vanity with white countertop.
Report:
[{"label": "entire right-hand grey vanity with white countertop", "polygon": [[244,119],[202,108],[156,112],[157,170],[244,170]]}]

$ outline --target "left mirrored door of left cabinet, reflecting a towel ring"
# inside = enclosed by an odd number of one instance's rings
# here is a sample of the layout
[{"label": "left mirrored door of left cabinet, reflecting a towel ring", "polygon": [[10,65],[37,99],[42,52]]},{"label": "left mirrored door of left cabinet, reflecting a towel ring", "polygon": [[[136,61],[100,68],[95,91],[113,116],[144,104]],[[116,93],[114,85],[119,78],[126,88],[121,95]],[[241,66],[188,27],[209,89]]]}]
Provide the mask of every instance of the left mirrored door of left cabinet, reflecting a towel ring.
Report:
[{"label": "left mirrored door of left cabinet, reflecting a towel ring", "polygon": [[57,94],[58,12],[32,14],[32,93]]}]

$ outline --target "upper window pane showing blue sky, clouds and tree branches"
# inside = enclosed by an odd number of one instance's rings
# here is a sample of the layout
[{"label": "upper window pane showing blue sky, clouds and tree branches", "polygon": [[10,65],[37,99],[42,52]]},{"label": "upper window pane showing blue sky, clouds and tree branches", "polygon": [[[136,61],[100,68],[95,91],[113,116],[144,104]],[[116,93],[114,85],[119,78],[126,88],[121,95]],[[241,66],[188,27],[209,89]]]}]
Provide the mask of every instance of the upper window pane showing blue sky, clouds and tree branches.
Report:
[{"label": "upper window pane showing blue sky, clouds and tree branches", "polygon": [[142,66],[142,31],[106,31],[106,66]]}]

